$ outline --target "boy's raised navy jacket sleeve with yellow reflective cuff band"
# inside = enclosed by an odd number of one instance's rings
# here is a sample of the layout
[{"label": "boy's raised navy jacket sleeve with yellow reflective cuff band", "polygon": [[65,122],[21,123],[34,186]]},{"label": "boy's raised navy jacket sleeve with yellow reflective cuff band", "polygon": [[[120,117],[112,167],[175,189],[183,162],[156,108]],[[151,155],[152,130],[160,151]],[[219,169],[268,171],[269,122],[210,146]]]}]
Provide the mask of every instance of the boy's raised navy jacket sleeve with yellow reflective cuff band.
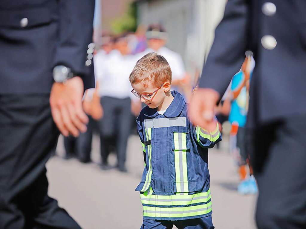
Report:
[{"label": "boy's raised navy jacket sleeve with yellow reflective cuff band", "polygon": [[192,131],[193,138],[202,148],[212,148],[215,146],[215,144],[222,140],[218,123],[215,130],[212,132],[209,132],[199,126],[193,126],[191,123],[190,130]]}]

